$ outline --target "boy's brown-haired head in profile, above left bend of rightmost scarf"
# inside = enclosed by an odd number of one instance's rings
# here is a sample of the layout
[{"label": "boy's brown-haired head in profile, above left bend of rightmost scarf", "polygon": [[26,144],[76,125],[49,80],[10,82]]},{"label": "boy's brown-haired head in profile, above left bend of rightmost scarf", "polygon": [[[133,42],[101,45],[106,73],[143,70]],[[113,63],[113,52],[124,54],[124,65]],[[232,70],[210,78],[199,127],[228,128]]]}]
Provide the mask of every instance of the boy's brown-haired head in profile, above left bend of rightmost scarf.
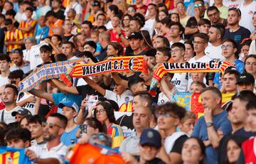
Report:
[{"label": "boy's brown-haired head in profile, above left bend of rightmost scarf", "polygon": [[164,46],[156,48],[156,64],[168,62],[170,58],[171,48]]}]

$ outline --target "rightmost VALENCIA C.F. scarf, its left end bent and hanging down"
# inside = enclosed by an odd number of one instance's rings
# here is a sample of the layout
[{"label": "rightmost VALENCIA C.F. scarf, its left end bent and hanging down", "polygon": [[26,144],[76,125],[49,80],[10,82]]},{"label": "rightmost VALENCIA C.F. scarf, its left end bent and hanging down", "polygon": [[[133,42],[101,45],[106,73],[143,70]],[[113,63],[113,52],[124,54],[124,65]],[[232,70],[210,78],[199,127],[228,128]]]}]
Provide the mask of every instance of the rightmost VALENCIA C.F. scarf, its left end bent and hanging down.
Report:
[{"label": "rightmost VALENCIA C.F. scarf, its left end bent and hanging down", "polygon": [[156,96],[156,85],[166,73],[183,73],[183,72],[224,72],[230,66],[229,62],[196,62],[196,63],[172,63],[165,62],[154,70],[151,80],[149,93]]}]

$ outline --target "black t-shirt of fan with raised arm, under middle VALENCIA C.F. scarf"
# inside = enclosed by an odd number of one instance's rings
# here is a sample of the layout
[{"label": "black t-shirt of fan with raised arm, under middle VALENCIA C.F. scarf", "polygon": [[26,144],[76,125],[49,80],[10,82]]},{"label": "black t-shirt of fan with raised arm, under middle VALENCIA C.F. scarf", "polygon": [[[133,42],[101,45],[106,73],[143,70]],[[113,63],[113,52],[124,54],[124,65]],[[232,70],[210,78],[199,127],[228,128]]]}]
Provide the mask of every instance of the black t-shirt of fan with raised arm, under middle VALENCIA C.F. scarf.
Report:
[{"label": "black t-shirt of fan with raised arm, under middle VALENCIA C.F. scarf", "polygon": [[[105,86],[105,84],[103,82],[102,82],[102,84],[100,84],[100,87],[102,87],[104,89],[110,89],[109,87]],[[97,92],[95,89],[92,89],[92,87],[90,87],[90,85],[88,85],[88,84],[78,86],[78,87],[76,87],[76,89],[78,90],[79,94],[82,96],[82,99],[85,99],[85,97],[87,95],[98,95],[99,97],[103,97],[102,94]]]}]

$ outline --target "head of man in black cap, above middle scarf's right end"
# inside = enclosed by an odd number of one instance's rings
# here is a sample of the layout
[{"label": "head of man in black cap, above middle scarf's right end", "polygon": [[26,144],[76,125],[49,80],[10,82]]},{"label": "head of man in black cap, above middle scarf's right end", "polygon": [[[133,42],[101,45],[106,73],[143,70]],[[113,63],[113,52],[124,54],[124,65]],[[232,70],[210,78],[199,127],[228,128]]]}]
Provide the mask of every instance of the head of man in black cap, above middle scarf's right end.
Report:
[{"label": "head of man in black cap, above middle scarf's right end", "polygon": [[129,45],[131,46],[133,53],[130,55],[144,55],[144,50],[142,50],[142,34],[140,32],[132,33],[129,38]]}]

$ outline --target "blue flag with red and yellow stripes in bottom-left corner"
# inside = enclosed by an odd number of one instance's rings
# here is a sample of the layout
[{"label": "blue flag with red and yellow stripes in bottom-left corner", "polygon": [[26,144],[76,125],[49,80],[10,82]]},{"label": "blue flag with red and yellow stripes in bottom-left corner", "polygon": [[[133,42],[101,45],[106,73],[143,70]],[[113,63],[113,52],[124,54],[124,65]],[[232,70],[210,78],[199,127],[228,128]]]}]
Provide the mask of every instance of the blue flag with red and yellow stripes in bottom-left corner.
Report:
[{"label": "blue flag with red and yellow stripes in bottom-left corner", "polygon": [[25,149],[0,146],[0,163],[31,164],[31,160],[25,155]]}]

